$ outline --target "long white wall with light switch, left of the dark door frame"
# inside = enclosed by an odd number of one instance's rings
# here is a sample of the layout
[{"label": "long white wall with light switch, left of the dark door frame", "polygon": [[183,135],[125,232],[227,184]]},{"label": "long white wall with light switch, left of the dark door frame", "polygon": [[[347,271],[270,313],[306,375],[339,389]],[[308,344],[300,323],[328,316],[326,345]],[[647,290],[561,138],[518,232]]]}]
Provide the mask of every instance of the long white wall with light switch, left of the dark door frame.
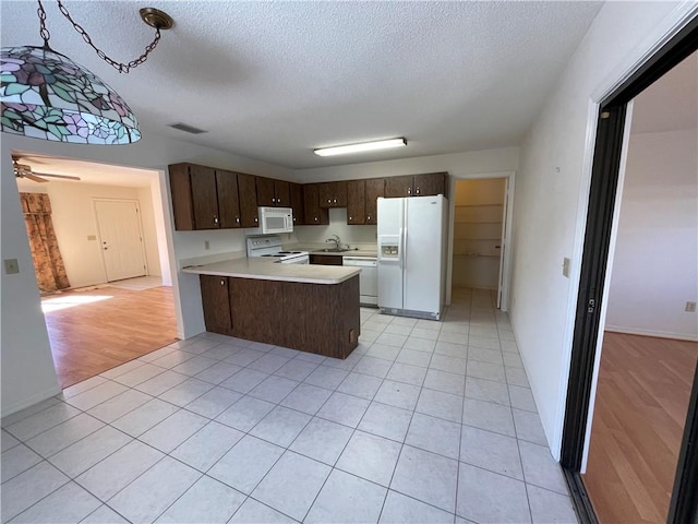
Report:
[{"label": "long white wall with light switch, left of the dark door frame", "polygon": [[[594,103],[664,37],[676,8],[673,2],[605,3],[521,145],[510,319],[555,457],[569,372]],[[687,2],[682,9],[693,7]],[[564,257],[573,261],[570,278],[562,274]]]}]

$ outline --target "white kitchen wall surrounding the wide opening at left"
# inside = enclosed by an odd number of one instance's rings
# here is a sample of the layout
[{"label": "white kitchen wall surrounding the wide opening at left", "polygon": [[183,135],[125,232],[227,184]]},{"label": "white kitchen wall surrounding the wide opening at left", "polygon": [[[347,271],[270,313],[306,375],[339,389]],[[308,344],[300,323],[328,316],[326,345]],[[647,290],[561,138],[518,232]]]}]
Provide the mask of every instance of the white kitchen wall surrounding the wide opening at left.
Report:
[{"label": "white kitchen wall surrounding the wide opening at left", "polygon": [[[166,219],[165,236],[169,246],[168,262],[177,269],[178,260],[196,254],[208,254],[203,249],[203,236],[206,231],[186,236],[173,235],[169,183],[165,176],[167,165],[179,162],[192,162],[213,167],[227,168],[243,172],[289,180],[292,171],[263,162],[230,155],[221,151],[165,139],[144,130],[144,139],[132,145],[98,146],[61,144],[41,140],[25,139],[2,134],[2,259],[17,259],[20,273],[5,275],[2,272],[2,416],[9,415],[27,405],[56,394],[58,381],[50,354],[48,334],[40,309],[36,277],[29,254],[24,217],[20,207],[17,187],[12,174],[12,151],[21,153],[50,155],[100,162],[118,166],[140,167],[159,172],[156,184],[159,202]],[[55,182],[50,182],[55,183]],[[154,212],[156,212],[154,206]],[[224,231],[213,231],[224,233]],[[212,250],[220,246],[239,245],[241,233],[229,236],[216,235]],[[228,249],[232,250],[232,249]],[[204,329],[201,311],[198,279],[194,275],[177,272],[172,282],[176,296],[176,310],[180,323],[179,336],[188,337]],[[11,329],[9,329],[11,326]]]}]

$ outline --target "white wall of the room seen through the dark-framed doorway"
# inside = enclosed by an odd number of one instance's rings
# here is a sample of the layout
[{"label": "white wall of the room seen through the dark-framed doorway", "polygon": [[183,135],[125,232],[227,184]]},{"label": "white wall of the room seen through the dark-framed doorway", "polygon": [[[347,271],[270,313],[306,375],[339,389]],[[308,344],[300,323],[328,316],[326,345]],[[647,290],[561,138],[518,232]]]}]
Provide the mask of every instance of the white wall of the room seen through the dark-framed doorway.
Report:
[{"label": "white wall of the room seen through the dark-framed doorway", "polygon": [[698,340],[698,132],[631,134],[606,330]]}]

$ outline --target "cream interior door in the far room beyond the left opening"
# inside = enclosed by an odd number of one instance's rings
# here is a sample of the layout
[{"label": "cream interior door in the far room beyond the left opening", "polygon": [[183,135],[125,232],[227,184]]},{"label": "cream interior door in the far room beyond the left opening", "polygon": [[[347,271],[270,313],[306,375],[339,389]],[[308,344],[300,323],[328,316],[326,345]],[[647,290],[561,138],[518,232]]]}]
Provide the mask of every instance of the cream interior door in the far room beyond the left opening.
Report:
[{"label": "cream interior door in the far room beyond the left opening", "polygon": [[135,201],[95,201],[107,282],[146,274],[141,214]]}]

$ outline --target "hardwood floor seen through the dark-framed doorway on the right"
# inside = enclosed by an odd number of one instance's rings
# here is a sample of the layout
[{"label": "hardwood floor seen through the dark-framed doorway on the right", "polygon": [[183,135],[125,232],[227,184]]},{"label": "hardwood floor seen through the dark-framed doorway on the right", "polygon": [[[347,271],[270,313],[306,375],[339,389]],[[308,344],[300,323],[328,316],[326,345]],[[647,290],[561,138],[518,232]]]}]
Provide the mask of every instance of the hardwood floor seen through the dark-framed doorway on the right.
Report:
[{"label": "hardwood floor seen through the dark-framed doorway on the right", "polygon": [[666,522],[698,343],[604,334],[587,473],[602,524]]}]

